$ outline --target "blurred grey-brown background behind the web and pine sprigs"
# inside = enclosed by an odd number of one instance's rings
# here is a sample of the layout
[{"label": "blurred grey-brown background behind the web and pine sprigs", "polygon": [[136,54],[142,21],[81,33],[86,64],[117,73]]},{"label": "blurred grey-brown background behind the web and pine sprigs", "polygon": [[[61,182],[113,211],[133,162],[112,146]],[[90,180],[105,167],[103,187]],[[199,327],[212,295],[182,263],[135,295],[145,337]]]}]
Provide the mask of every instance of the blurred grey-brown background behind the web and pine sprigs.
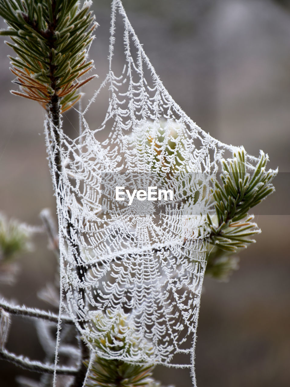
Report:
[{"label": "blurred grey-brown background behind the web and pine sprigs", "polygon": [[[100,24],[90,50],[100,80],[107,71],[109,0],[94,0]],[[256,210],[262,229],[240,254],[228,283],[206,278],[201,296],[196,374],[199,387],[288,387],[290,384],[290,4],[287,0],[124,0],[128,17],[165,87],[183,110],[213,137],[279,166],[277,192]],[[4,27],[3,21],[1,26]],[[44,111],[12,96],[11,51],[0,42],[0,211],[29,224],[55,198],[44,145]],[[84,104],[100,80],[84,90]],[[94,82],[94,83],[93,83]],[[91,110],[100,118],[106,101]],[[69,111],[64,125],[77,130]],[[0,294],[48,308],[37,291],[53,281],[57,262],[46,236],[18,257],[15,286]],[[34,326],[13,319],[8,347],[43,356]],[[0,362],[1,387],[26,374]],[[190,387],[188,371],[157,367],[163,384]],[[37,377],[37,375],[34,375]]]}]

